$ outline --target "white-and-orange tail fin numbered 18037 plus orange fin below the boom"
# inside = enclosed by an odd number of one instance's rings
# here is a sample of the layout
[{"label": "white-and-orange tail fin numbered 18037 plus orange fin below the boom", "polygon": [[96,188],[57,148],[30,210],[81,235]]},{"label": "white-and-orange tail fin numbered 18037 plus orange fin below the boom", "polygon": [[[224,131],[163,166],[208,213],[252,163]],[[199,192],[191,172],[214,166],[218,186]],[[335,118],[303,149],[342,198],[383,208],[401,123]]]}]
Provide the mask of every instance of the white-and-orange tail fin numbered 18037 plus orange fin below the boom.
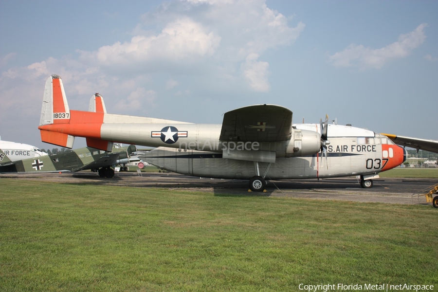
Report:
[{"label": "white-and-orange tail fin numbered 18037 plus orange fin below the boom", "polygon": [[[44,88],[39,126],[69,124],[70,118],[70,109],[65,96],[61,77],[52,75],[47,78],[46,86]],[[40,134],[42,142],[66,148],[73,148],[74,136],[62,132],[42,129],[40,129]]]}]

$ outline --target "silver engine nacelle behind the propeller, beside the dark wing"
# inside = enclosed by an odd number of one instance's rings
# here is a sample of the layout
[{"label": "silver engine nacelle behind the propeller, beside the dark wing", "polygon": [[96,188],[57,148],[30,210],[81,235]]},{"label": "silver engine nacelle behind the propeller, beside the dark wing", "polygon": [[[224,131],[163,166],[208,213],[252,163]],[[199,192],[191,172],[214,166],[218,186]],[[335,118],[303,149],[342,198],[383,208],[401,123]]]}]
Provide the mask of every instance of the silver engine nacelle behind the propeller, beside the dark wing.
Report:
[{"label": "silver engine nacelle behind the propeller, beside the dark wing", "polygon": [[321,135],[316,131],[294,129],[286,146],[286,157],[316,154],[321,151]]}]

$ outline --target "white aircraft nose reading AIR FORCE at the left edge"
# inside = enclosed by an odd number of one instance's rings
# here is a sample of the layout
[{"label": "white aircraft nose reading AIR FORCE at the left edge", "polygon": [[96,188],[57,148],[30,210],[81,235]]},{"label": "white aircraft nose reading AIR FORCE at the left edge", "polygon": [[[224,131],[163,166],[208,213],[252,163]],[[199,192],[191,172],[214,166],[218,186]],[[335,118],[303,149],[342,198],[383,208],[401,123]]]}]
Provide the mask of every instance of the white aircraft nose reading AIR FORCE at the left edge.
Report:
[{"label": "white aircraft nose reading AIR FORCE at the left edge", "polygon": [[7,157],[9,161],[17,161],[47,155],[46,152],[39,150],[35,146],[2,140],[0,140],[0,151],[2,151],[0,154],[0,163],[6,161],[5,157]]}]

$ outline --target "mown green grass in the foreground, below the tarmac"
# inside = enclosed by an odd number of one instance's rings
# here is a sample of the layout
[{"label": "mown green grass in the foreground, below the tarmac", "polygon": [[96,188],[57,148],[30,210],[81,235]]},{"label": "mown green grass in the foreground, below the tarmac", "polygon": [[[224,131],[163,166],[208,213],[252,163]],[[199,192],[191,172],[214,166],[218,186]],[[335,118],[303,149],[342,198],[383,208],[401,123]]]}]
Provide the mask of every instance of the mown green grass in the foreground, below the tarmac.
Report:
[{"label": "mown green grass in the foreground, below the tarmac", "polygon": [[1,291],[438,284],[438,210],[430,205],[6,178],[0,189]]}]

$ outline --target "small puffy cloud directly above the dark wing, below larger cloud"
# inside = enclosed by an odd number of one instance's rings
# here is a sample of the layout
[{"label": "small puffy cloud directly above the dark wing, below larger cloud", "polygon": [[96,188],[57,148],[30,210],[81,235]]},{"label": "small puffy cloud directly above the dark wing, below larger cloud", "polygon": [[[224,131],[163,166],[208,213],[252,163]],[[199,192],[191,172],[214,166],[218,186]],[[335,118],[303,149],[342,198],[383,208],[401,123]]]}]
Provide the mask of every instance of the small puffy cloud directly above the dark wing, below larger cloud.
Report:
[{"label": "small puffy cloud directly above the dark wing, below larger cloud", "polygon": [[250,54],[243,64],[243,75],[249,80],[250,86],[255,91],[269,91],[268,62],[257,61],[257,54]]}]

